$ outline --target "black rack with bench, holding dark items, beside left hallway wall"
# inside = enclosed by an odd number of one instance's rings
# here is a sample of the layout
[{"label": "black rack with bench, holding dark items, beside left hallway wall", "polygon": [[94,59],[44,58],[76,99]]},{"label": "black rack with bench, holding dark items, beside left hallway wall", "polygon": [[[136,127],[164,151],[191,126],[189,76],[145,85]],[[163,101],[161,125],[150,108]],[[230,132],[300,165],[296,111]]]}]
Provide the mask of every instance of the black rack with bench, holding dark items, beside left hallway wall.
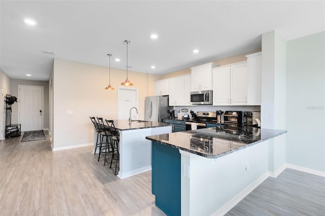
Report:
[{"label": "black rack with bench, holding dark items, beside left hallway wall", "polygon": [[6,95],[6,138],[20,136],[21,124],[11,124],[11,105],[15,102],[12,101],[10,94]]}]

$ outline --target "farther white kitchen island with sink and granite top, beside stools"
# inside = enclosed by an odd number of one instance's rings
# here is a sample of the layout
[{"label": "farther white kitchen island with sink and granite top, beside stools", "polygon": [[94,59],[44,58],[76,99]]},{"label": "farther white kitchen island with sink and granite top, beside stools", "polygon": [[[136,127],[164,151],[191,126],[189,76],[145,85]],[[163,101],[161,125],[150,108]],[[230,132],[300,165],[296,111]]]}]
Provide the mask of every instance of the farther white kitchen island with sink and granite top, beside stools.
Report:
[{"label": "farther white kitchen island with sink and granite top, beside stools", "polygon": [[[145,137],[171,133],[172,126],[161,122],[114,120],[120,132],[119,178],[126,178],[151,169],[151,142]],[[94,135],[94,149],[96,143]]]}]

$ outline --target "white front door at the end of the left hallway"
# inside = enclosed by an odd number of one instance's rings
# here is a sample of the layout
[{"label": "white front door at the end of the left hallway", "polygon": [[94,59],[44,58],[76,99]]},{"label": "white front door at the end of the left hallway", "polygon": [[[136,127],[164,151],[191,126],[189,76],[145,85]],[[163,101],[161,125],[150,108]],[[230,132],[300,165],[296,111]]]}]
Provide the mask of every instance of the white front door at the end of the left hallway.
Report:
[{"label": "white front door at the end of the left hallway", "polygon": [[19,86],[21,131],[43,129],[43,87]]}]

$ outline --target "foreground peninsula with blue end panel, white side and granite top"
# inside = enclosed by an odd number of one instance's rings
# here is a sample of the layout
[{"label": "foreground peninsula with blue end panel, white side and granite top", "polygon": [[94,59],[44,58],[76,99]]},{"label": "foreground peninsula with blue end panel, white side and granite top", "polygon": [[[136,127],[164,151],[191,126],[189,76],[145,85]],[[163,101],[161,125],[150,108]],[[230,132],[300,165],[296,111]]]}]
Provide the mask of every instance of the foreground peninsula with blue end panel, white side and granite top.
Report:
[{"label": "foreground peninsula with blue end panel, white side and granite top", "polygon": [[269,176],[284,130],[212,127],[148,136],[152,194],[169,215],[223,215]]}]

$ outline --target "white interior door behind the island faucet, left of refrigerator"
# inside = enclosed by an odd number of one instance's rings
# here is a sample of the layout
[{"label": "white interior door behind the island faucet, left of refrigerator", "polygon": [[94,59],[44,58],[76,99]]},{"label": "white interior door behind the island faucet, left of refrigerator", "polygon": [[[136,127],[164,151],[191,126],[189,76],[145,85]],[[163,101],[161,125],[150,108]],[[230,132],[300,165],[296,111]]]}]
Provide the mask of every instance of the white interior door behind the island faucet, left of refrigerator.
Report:
[{"label": "white interior door behind the island faucet, left of refrigerator", "polygon": [[[138,89],[133,88],[118,88],[118,119],[128,119],[129,111],[132,107],[138,109]],[[135,109],[131,113],[132,119],[138,119],[138,114]]]}]

